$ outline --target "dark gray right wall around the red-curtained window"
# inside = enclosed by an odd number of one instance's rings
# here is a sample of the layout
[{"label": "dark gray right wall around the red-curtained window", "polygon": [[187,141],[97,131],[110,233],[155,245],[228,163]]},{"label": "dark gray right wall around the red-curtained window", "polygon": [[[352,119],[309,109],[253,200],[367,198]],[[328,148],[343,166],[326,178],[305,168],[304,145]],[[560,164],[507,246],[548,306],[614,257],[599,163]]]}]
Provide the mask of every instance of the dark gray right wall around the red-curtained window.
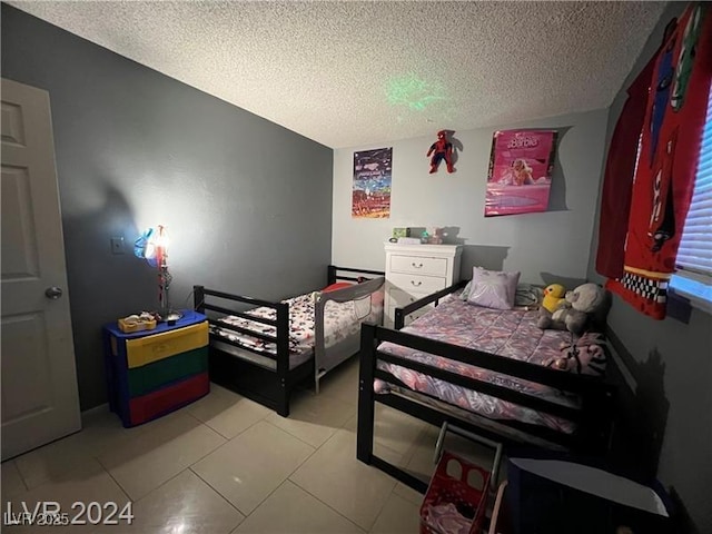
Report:
[{"label": "dark gray right wall around the red-curtained window", "polygon": [[[639,61],[616,96],[609,113],[606,147],[617,121],[625,89],[661,43],[668,22],[686,3],[671,2],[651,34]],[[599,199],[600,202],[600,199]],[[597,214],[597,210],[596,210]],[[591,244],[589,278],[595,273],[599,218]],[[614,296],[609,325],[632,357],[632,373],[649,402],[653,419],[666,418],[659,478],[673,486],[700,533],[712,532],[712,316],[694,309],[689,324],[659,322],[639,314]]]}]

